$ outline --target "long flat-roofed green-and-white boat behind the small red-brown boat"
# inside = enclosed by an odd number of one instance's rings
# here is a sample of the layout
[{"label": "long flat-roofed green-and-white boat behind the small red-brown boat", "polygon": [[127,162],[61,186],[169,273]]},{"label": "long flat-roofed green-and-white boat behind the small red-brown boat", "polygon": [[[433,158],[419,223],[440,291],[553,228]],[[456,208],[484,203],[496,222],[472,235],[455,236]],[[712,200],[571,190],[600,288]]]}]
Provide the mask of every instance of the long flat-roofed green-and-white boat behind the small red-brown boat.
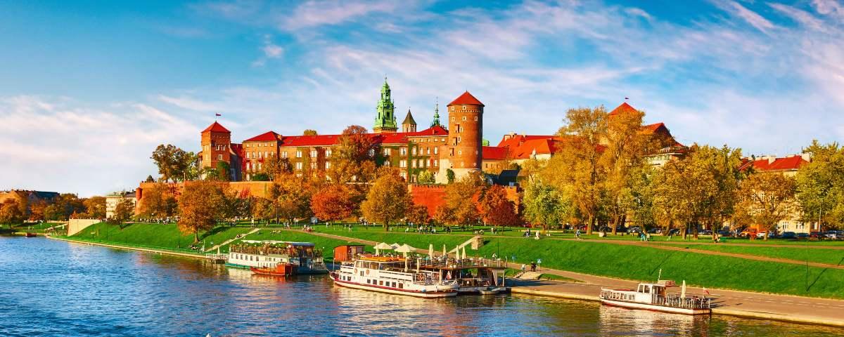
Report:
[{"label": "long flat-roofed green-and-white boat behind the small red-brown boat", "polygon": [[275,269],[279,264],[295,265],[296,274],[327,274],[322,251],[314,243],[273,240],[242,240],[232,244],[225,265],[251,270]]}]

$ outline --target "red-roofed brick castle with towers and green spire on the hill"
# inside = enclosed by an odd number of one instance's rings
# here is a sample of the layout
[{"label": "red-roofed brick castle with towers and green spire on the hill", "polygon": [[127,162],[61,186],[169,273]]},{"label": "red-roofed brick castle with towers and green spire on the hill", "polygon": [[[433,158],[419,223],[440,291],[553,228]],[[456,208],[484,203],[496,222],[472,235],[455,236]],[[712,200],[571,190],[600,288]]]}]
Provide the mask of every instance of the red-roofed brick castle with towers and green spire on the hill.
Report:
[{"label": "red-roofed brick castle with towers and green spire on the hill", "polygon": [[[439,104],[435,105],[430,127],[417,131],[417,124],[408,110],[401,125],[396,122],[395,102],[387,79],[381,86],[376,105],[375,124],[371,137],[375,147],[370,156],[380,166],[401,170],[409,183],[417,181],[427,170],[437,183],[447,181],[452,169],[459,179],[479,171],[483,162],[484,104],[468,91],[446,105],[448,127],[440,124]],[[399,131],[400,127],[400,131]],[[268,160],[285,158],[297,175],[313,170],[331,169],[332,153],[341,135],[284,136],[267,131],[241,143],[231,142],[231,132],[214,121],[201,132],[199,152],[203,168],[228,168],[231,181],[249,181],[264,172]]]}]

